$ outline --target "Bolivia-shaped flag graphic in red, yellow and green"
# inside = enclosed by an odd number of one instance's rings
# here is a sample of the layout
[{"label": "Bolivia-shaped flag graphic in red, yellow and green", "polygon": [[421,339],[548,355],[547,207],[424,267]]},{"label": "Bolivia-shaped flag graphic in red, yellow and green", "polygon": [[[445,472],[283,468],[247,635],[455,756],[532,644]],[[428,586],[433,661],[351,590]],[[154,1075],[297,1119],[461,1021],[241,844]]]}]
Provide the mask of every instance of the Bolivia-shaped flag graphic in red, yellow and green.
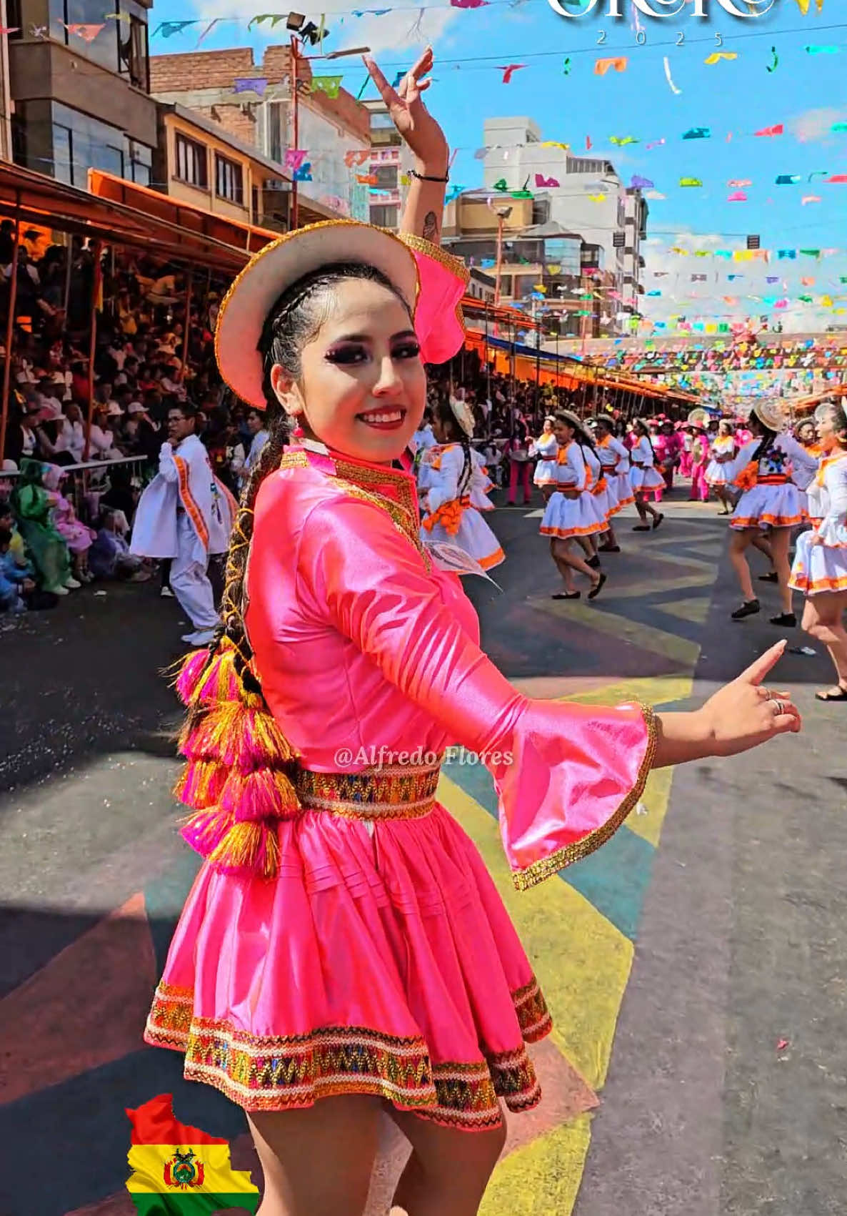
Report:
[{"label": "Bolivia-shaped flag graphic in red, yellow and green", "polygon": [[230,1145],[174,1118],[173,1097],[160,1093],[137,1110],[132,1124],[132,1169],[126,1189],[139,1216],[210,1216],[227,1207],[255,1212],[259,1188],[232,1170]]}]

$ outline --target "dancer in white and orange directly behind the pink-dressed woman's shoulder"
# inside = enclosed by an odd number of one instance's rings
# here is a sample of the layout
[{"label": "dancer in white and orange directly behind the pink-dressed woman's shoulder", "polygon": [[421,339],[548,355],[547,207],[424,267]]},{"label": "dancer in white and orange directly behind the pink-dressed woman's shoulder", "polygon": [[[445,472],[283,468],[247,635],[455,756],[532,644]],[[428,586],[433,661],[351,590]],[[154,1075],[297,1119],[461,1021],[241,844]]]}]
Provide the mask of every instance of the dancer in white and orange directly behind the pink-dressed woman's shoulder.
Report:
[{"label": "dancer in white and orange directly behind the pink-dressed woman's shoulder", "polygon": [[[506,559],[499,541],[479,513],[474,499],[482,485],[491,484],[474,462],[470,439],[474,416],[467,401],[456,398],[439,401],[434,410],[433,432],[436,446],[425,456],[425,486],[422,497],[420,539],[458,545],[484,570]],[[486,510],[490,505],[486,501]]]}]

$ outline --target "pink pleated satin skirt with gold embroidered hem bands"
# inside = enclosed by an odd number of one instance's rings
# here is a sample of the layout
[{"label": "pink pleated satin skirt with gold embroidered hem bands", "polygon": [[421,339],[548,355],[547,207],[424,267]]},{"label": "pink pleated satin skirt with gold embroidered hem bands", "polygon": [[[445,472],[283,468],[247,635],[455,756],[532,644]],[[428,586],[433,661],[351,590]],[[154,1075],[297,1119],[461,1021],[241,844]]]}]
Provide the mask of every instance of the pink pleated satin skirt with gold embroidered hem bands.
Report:
[{"label": "pink pleated satin skirt with gold embroidered hem bands", "polygon": [[367,822],[279,823],[275,879],[203,865],[146,1042],[244,1110],[341,1093],[468,1131],[535,1107],[526,1051],[550,1030],[474,844],[440,805]]}]

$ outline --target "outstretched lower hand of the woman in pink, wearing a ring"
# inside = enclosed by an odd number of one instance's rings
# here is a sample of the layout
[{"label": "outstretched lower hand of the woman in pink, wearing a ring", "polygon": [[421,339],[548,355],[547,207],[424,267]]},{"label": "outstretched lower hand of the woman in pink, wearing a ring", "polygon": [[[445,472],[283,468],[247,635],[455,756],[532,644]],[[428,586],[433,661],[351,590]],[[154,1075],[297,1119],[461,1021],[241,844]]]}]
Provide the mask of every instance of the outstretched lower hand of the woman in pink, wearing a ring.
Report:
[{"label": "outstretched lower hand of the woman in pink, wearing a ring", "polygon": [[775,734],[800,733],[803,724],[800,710],[791,703],[791,694],[763,687],[785,646],[784,641],[777,642],[702,706],[700,713],[711,733],[712,755],[738,755],[767,743]]}]

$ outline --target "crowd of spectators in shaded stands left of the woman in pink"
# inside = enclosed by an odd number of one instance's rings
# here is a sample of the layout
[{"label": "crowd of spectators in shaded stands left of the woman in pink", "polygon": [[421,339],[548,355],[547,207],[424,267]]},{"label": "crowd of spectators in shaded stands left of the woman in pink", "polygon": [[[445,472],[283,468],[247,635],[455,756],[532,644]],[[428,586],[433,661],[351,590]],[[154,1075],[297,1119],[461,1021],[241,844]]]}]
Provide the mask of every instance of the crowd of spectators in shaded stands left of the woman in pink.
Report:
[{"label": "crowd of spectators in shaded stands left of the woman in pink", "polygon": [[[197,429],[215,473],[233,494],[265,438],[261,416],[232,399],[216,373],[213,333],[225,283],[198,271],[186,316],[185,271],[107,250],[91,376],[94,253],[77,243],[68,266],[66,247],[39,252],[27,236],[17,254],[0,454],[0,610],[12,612],[51,607],[92,579],[151,576],[130,554],[128,536],[175,405],[198,411]],[[4,221],[1,332],[13,254],[11,225]],[[80,468],[84,463],[94,467]]]}]

